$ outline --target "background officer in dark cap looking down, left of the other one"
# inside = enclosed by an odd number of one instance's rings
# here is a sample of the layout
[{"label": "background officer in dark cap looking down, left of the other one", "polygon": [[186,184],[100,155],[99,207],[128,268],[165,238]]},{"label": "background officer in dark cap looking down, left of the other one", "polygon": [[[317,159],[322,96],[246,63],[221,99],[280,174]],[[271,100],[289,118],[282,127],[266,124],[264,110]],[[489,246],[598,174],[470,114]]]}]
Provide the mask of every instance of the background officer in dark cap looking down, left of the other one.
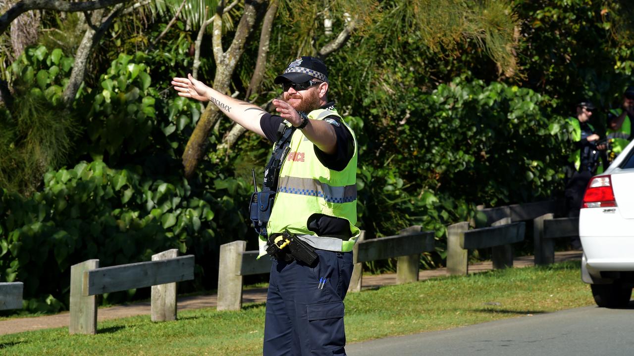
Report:
[{"label": "background officer in dark cap looking down, left of the other one", "polygon": [[[598,167],[600,153],[597,141],[599,136],[590,125],[593,110],[595,110],[595,106],[590,101],[582,101],[577,105],[576,117],[568,118],[572,127],[571,141],[573,141],[573,152],[569,157],[573,174],[567,182],[564,192],[568,217],[579,216],[586,186]],[[579,241],[578,236],[571,239],[571,245],[574,250],[581,250],[581,241]]]}]

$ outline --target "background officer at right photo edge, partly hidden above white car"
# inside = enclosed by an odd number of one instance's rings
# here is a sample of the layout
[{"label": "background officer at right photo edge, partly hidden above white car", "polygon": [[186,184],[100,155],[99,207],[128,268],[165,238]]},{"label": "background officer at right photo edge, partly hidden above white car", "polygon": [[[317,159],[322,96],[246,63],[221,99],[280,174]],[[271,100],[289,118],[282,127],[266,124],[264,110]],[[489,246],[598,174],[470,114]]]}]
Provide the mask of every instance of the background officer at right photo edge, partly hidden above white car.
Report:
[{"label": "background officer at right photo edge, partly hidden above white car", "polygon": [[[628,87],[623,93],[621,108],[612,109],[607,115],[605,136],[609,146],[607,148],[607,160],[602,168],[607,169],[614,158],[623,152],[625,146],[630,143],[632,139],[632,117],[634,117],[634,86]],[[603,172],[604,169],[601,169],[599,173]]]}]

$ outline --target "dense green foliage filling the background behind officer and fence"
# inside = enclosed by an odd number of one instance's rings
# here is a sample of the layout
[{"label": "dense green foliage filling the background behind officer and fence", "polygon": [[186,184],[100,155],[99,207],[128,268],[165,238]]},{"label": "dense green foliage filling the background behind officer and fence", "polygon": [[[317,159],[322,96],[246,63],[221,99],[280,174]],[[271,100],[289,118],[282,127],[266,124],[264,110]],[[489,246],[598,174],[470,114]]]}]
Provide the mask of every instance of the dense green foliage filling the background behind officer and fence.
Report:
[{"label": "dense green foliage filling the background behind officer and fence", "polygon": [[[68,266],[89,258],[139,262],[176,247],[197,258],[197,280],[185,288],[210,289],[219,245],[246,239],[256,248],[245,202],[270,146],[253,134],[232,146],[233,123],[174,95],[169,80],[197,60],[200,79],[266,108],[281,94],[281,68],[298,54],[323,56],[330,98],[358,136],[359,227],[370,237],[412,224],[436,231],[428,267],[443,264],[445,227],[477,220],[476,205],[557,196],[569,149],[563,117],[583,98],[618,105],[634,67],[622,1],[256,1],[225,9],[221,41],[210,25],[200,48],[198,30],[218,2],[197,2],[167,25],[181,3],[102,11],[91,24],[103,39],[89,56],[79,49],[92,29],[86,15],[97,11],[42,12],[37,43],[16,57],[2,34],[0,280],[25,282],[32,310],[67,307]],[[213,48],[231,47],[256,3],[244,52],[223,72]],[[251,87],[273,4],[266,65]],[[349,13],[351,4],[359,11]],[[346,41],[322,52],[346,30]],[[77,68],[85,75],[65,105]],[[209,130],[204,156],[185,179],[200,125]]]}]

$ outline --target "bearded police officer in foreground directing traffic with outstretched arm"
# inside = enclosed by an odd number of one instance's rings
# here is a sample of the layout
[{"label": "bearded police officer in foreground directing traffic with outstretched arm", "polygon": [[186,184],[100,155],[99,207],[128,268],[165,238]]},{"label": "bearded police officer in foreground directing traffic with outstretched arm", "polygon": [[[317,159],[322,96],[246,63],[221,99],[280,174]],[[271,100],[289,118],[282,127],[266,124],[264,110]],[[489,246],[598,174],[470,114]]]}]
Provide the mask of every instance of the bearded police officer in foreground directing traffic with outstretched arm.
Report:
[{"label": "bearded police officer in foreground directing traffic with outstretched arm", "polygon": [[343,300],[360,232],[354,226],[356,137],[328,101],[323,61],[297,58],[275,83],[283,89],[282,99],[273,99],[278,115],[191,75],[172,80],[179,96],[210,100],[231,120],[273,143],[264,186],[254,194],[251,211],[260,255],[274,258],[264,355],[345,355]]}]

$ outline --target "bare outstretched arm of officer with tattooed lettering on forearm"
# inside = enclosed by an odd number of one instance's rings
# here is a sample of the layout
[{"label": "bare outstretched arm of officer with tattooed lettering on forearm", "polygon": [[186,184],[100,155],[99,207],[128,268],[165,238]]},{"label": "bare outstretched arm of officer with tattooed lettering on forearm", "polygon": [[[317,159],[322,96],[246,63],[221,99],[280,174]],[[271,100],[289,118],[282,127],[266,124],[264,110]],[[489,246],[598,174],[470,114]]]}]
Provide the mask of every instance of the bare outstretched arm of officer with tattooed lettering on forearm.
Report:
[{"label": "bare outstretched arm of officer with tattooed lettering on forearm", "polygon": [[262,137],[266,137],[262,127],[260,127],[260,118],[266,114],[266,111],[259,106],[231,98],[231,96],[223,94],[216,89],[205,86],[200,80],[194,79],[191,74],[188,74],[187,78],[172,79],[172,86],[174,86],[179,96],[199,101],[211,101],[223,111],[224,115],[227,115],[238,125]]}]

